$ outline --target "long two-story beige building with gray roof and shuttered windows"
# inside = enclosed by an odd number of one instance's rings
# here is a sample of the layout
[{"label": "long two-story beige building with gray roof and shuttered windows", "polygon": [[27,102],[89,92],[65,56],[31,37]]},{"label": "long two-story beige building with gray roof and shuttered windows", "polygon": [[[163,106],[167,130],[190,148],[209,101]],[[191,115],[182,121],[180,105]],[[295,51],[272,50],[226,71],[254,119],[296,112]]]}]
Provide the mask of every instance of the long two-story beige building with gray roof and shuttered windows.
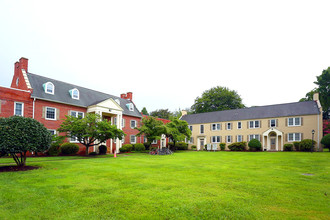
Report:
[{"label": "long two-story beige building with gray roof and shuttered windows", "polygon": [[314,101],[183,115],[181,119],[188,122],[192,131],[189,145],[196,145],[197,150],[209,143],[219,149],[219,143],[228,146],[254,138],[267,151],[283,151],[284,144],[312,138],[317,150],[321,149],[322,107],[318,94]]}]

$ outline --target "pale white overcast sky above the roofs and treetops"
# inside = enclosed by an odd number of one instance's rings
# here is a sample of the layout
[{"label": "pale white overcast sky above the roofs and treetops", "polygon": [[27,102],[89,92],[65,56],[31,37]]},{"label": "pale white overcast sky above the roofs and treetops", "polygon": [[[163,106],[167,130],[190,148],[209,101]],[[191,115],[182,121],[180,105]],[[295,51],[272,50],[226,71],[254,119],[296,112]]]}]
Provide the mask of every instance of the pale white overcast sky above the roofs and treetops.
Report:
[{"label": "pale white overcast sky above the roofs and treetops", "polygon": [[330,66],[330,1],[0,0],[0,86],[14,63],[176,111],[216,86],[246,106],[297,102]]}]

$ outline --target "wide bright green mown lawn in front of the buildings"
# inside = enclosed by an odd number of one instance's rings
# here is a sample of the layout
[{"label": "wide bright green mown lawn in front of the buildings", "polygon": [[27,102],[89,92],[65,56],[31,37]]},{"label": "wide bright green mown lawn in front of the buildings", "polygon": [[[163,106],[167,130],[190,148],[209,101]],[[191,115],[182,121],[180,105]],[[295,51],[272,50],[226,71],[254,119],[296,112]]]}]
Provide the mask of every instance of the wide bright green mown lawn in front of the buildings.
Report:
[{"label": "wide bright green mown lawn in front of the buildings", "polygon": [[79,158],[0,173],[0,219],[330,219],[329,152]]}]

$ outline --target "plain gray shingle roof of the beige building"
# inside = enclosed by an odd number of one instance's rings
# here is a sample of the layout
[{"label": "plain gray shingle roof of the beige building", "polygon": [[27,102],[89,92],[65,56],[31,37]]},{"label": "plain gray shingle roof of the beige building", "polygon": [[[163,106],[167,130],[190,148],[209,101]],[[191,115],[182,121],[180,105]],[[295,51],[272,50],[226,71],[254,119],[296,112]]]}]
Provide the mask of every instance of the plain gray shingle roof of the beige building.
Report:
[{"label": "plain gray shingle roof of the beige building", "polygon": [[315,114],[320,114],[317,103],[315,101],[306,101],[191,114],[185,115],[181,119],[187,121],[188,124],[202,124],[223,121],[278,118]]}]

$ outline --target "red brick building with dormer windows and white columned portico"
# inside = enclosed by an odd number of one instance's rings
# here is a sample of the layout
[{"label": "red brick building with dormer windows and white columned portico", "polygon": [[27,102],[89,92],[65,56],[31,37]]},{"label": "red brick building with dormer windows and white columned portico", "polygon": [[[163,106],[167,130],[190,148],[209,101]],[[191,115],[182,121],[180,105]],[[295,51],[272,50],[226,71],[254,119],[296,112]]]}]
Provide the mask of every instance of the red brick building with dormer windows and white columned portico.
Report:
[{"label": "red brick building with dormer windows and white columned portico", "polygon": [[[133,102],[133,93],[120,97],[87,89],[28,72],[28,59],[21,58],[14,65],[14,76],[10,88],[0,87],[0,117],[20,115],[34,118],[56,133],[65,115],[84,116],[97,113],[110,120],[126,134],[120,141],[108,140],[108,152],[119,152],[123,144],[143,143],[134,129],[141,123],[142,114]],[[67,141],[76,142],[74,138]],[[84,153],[83,145],[80,153]],[[95,147],[92,151],[97,150]]]}]

